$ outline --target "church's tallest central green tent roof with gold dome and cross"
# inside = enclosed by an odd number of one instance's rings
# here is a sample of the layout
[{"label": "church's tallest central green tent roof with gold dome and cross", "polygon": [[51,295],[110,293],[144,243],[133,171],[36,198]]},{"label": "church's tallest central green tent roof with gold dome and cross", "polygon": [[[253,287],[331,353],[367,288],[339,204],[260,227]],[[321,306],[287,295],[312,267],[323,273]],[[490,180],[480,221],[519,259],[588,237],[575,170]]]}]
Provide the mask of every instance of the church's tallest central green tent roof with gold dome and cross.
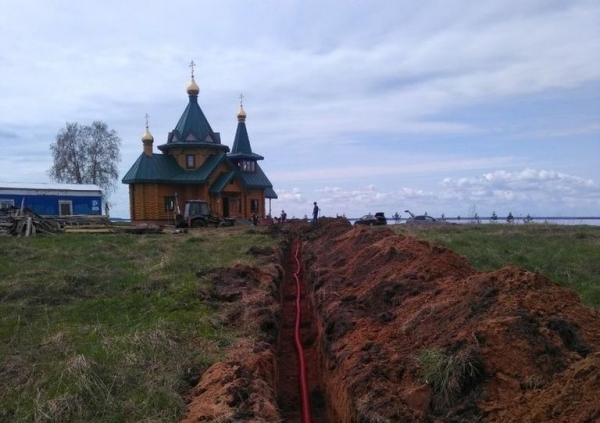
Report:
[{"label": "church's tallest central green tent roof with gold dome and cross", "polygon": [[[192,65],[193,66],[193,62]],[[187,87],[189,102],[177,126],[167,137],[167,143],[159,145],[158,149],[165,152],[175,147],[211,147],[217,150],[229,151],[229,147],[221,144],[221,136],[214,132],[204,116],[200,105],[198,104],[198,94],[200,88],[194,80],[192,67],[192,80]]]}]

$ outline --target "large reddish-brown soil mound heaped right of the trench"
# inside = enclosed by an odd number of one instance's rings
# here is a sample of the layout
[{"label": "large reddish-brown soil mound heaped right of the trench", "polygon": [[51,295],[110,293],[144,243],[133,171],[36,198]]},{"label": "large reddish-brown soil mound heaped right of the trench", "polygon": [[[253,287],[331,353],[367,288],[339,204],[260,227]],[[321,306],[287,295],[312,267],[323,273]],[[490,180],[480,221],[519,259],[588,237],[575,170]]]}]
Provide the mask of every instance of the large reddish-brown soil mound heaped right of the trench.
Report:
[{"label": "large reddish-brown soil mound heaped right of the trench", "polygon": [[[600,420],[600,314],[574,293],[514,267],[475,272],[389,229],[345,226],[313,229],[303,248],[333,421]],[[431,380],[427,353],[446,357]]]}]

